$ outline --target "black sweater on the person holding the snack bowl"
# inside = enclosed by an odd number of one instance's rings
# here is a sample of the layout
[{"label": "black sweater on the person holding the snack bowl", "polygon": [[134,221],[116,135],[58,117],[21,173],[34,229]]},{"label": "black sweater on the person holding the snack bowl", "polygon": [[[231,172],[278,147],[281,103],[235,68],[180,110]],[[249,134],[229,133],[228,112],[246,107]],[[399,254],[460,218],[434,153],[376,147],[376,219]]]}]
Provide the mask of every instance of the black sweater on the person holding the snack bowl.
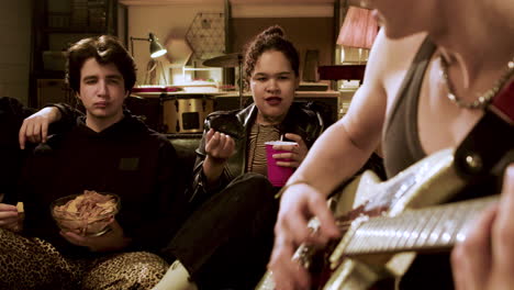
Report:
[{"label": "black sweater on the person holding the snack bowl", "polygon": [[79,118],[77,126],[37,146],[26,161],[25,233],[63,254],[85,255],[87,249],[59,236],[49,204],[86,189],[107,191],[121,197],[116,221],[133,238],[131,249],[157,252],[183,221],[183,180],[171,144],[130,114],[100,133]]}]

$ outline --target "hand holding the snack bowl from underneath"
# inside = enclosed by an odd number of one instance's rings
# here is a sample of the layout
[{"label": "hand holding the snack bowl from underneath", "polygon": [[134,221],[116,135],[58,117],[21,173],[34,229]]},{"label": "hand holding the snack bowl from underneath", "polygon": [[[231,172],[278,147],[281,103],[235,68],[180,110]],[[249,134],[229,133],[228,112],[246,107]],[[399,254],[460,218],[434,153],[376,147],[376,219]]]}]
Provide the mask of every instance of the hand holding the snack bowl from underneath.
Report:
[{"label": "hand holding the snack bowl from underneath", "polygon": [[111,227],[110,231],[101,236],[81,236],[74,232],[63,231],[60,235],[69,243],[88,247],[91,252],[120,250],[128,246],[131,239],[124,236],[123,228],[116,220],[113,219],[108,226]]}]

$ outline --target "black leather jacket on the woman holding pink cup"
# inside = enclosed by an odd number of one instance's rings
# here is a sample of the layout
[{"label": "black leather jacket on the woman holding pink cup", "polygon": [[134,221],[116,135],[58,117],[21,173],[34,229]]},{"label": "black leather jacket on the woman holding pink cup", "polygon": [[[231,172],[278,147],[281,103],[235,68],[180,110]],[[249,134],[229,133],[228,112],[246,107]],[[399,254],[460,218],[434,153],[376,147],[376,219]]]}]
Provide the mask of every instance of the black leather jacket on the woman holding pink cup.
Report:
[{"label": "black leather jacket on the woman holding pink cup", "polygon": [[[202,202],[204,198],[213,192],[225,188],[234,178],[245,174],[247,140],[252,125],[257,115],[257,108],[250,104],[243,110],[234,111],[217,111],[208,115],[204,123],[203,137],[200,146],[197,149],[197,161],[193,168],[193,182],[188,190],[190,202]],[[228,158],[223,174],[219,179],[217,185],[206,187],[206,179],[203,174],[203,160],[205,154],[205,134],[215,123],[216,119],[223,119],[224,127],[228,127],[230,134],[235,140],[235,154]],[[228,120],[228,121],[226,121]],[[289,112],[280,124],[280,134],[294,133],[302,136],[308,148],[312,146],[314,141],[324,130],[323,119],[314,109],[312,103],[293,102]]]}]

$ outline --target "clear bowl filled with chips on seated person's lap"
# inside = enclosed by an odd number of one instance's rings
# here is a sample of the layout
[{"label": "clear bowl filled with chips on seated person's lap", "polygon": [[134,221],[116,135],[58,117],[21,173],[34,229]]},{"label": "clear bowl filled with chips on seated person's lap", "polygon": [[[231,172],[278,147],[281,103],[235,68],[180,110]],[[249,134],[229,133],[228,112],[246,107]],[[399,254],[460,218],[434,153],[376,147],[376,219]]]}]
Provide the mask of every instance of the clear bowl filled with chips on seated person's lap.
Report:
[{"label": "clear bowl filled with chips on seated person's lap", "polygon": [[59,198],[51,212],[62,231],[82,236],[100,236],[120,211],[120,197],[113,193],[85,190],[82,194]]}]

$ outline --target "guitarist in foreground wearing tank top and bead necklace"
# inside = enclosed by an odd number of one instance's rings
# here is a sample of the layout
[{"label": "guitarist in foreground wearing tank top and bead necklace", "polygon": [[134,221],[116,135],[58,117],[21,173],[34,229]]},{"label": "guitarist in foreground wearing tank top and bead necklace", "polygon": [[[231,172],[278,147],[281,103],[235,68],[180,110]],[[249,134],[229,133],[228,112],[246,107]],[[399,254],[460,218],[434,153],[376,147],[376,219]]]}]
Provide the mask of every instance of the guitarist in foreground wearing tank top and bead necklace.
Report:
[{"label": "guitarist in foreground wearing tank top and bead necklace", "polygon": [[[323,245],[339,236],[326,197],[360,168],[380,142],[392,177],[427,155],[457,147],[505,88],[511,87],[506,108],[511,113],[514,108],[514,1],[369,0],[365,4],[382,30],[364,85],[348,114],[316,141],[281,196],[268,265],[279,290],[309,289],[309,272],[291,257],[302,243]],[[512,129],[512,115],[506,119]],[[452,253],[457,289],[514,285],[514,165],[512,159],[509,163],[501,174],[503,189],[489,192],[502,192],[500,205],[484,212]],[[321,222],[315,234],[306,226],[312,216]],[[451,288],[451,279],[445,285],[440,277],[451,278],[449,265],[431,266],[435,268],[431,272],[411,267],[415,277],[407,272],[400,288]],[[421,282],[409,283],[416,280]]]}]

